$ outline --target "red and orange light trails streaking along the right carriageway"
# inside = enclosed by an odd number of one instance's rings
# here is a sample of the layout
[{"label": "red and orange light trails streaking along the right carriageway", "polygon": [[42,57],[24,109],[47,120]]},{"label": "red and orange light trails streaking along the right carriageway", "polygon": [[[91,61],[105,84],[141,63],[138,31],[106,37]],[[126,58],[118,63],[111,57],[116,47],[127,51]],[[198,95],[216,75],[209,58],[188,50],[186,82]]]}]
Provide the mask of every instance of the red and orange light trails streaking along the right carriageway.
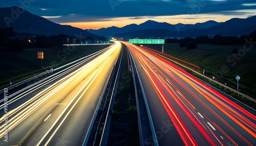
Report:
[{"label": "red and orange light trails streaking along the right carriageway", "polygon": [[[156,51],[152,51],[150,48],[142,49],[141,47],[129,43],[125,43],[125,45],[129,47],[131,52],[133,52],[138,59],[138,62],[141,64],[148,80],[150,80],[163,106],[174,122],[185,145],[195,145],[200,141],[194,139],[194,134],[189,134],[193,129],[198,129],[196,131],[202,133],[210,145],[225,145],[225,142],[227,144],[230,144],[230,142],[233,144],[255,144],[255,113],[248,112],[236,103],[230,101],[214,88],[209,87],[173,63],[168,62],[165,60],[166,55],[162,53],[157,54]],[[190,64],[189,62],[185,63]],[[186,95],[184,95],[183,92]],[[188,94],[190,94],[190,96],[187,96]],[[181,98],[179,98],[179,96],[181,96]],[[197,102],[195,102],[195,100]],[[212,107],[215,109],[212,109]],[[180,111],[181,109],[182,112]],[[207,109],[208,111],[203,110],[199,112],[200,109]],[[208,112],[215,116],[210,117],[211,120],[216,119],[218,120],[218,124],[221,122],[222,125],[218,126],[215,120],[212,122],[209,118],[204,118],[205,114]],[[180,115],[181,113],[185,113],[186,116]],[[201,119],[197,118],[199,116]],[[181,123],[184,118],[191,120],[190,125]],[[227,122],[227,120],[231,120],[232,122]],[[210,123],[214,123],[216,127]],[[234,128],[236,126],[238,126],[238,128]],[[221,129],[221,127],[225,127],[226,131]],[[235,134],[236,136],[228,136],[226,134],[227,132],[233,132],[232,135]],[[220,135],[220,133],[223,135]],[[250,136],[250,138],[248,136]],[[225,137],[229,141],[227,141]]]}]

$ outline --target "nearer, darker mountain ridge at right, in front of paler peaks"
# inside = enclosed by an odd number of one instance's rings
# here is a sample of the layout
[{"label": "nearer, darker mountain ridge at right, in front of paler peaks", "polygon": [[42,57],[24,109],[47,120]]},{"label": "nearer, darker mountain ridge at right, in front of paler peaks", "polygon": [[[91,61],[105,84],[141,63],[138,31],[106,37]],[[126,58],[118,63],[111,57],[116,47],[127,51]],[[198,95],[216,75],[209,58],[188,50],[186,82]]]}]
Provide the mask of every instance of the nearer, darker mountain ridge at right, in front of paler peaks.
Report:
[{"label": "nearer, darker mountain ridge at right, in front of paler peaks", "polygon": [[[147,38],[147,37],[198,37],[207,35],[212,37],[214,35],[220,34],[222,36],[242,36],[248,35],[251,32],[256,30],[256,16],[248,17],[248,18],[232,18],[223,23],[219,23],[219,25],[211,26],[205,25],[212,23],[212,21],[207,21],[205,23],[196,23],[194,26],[185,27],[190,29],[182,30],[182,31],[174,31],[170,29],[146,29],[141,31],[130,31],[126,33],[119,33],[113,35],[114,37],[139,37],[139,38]],[[213,22],[212,24],[214,24]],[[215,23],[216,24],[216,23]],[[200,27],[201,26],[201,27]],[[211,26],[211,27],[210,27]],[[208,27],[208,28],[207,28]]]}]

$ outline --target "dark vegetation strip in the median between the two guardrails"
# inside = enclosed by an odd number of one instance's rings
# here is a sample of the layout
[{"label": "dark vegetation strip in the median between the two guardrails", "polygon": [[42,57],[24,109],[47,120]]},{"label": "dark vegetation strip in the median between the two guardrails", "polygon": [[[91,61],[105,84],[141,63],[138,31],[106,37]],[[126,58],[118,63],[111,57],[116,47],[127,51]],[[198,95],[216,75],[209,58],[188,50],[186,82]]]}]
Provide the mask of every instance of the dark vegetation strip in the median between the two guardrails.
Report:
[{"label": "dark vegetation strip in the median between the two guardrails", "polygon": [[123,50],[112,121],[107,145],[140,145],[134,82]]}]

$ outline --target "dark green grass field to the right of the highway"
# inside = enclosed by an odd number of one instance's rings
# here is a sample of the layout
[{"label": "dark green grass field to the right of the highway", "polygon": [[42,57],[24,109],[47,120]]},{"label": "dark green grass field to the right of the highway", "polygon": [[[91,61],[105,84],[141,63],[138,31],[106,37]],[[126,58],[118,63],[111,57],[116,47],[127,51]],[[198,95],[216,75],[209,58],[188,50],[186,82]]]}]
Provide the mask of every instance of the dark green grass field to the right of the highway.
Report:
[{"label": "dark green grass field to the right of the highway", "polygon": [[[162,51],[162,45],[143,46]],[[234,48],[239,50],[238,55],[231,54]],[[243,45],[198,44],[196,50],[186,50],[174,43],[164,44],[164,51],[168,55],[204,68],[205,75],[215,77],[217,81],[234,89],[237,88],[236,76],[239,75],[239,90],[256,97],[256,46],[244,50]]]}]

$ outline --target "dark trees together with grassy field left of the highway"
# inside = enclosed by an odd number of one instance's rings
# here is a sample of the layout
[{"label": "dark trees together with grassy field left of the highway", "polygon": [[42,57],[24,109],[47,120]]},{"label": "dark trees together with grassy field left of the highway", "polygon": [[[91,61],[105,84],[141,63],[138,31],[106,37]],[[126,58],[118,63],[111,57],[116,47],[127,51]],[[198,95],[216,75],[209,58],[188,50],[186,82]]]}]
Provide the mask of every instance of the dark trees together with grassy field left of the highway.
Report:
[{"label": "dark trees together with grassy field left of the highway", "polygon": [[[69,38],[69,39],[68,39]],[[68,35],[40,36],[30,33],[16,33],[12,28],[0,30],[0,89],[8,87],[10,81],[15,84],[40,74],[60,64],[70,62],[82,56],[89,55],[109,46],[104,45],[76,45],[62,46],[73,40],[93,42],[105,40],[103,37],[75,38]],[[37,52],[44,52],[44,59],[37,59]]]}]

